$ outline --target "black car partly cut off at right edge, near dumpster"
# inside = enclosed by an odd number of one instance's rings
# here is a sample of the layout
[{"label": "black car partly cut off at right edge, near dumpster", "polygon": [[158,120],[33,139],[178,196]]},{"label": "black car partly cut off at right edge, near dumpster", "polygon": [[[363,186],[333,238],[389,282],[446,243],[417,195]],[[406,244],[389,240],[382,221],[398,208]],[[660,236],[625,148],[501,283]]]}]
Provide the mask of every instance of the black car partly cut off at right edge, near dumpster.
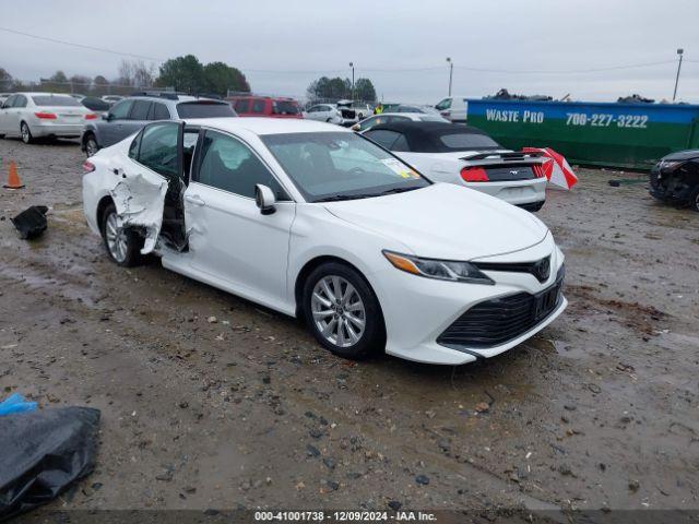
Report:
[{"label": "black car partly cut off at right edge, near dumpster", "polygon": [[651,170],[652,196],[699,211],[699,150],[664,156]]}]

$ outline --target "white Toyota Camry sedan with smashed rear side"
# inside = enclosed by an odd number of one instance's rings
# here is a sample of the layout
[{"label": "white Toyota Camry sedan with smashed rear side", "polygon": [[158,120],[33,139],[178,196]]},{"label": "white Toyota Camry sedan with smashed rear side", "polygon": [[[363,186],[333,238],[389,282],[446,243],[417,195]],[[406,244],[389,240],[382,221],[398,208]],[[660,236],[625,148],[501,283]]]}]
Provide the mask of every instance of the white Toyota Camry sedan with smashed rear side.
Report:
[{"label": "white Toyota Camry sedan with smashed rear side", "polygon": [[564,255],[532,214],[433,183],[350,130],[308,120],[154,122],[83,165],[108,255],[307,321],[336,355],[460,365],[566,308]]}]

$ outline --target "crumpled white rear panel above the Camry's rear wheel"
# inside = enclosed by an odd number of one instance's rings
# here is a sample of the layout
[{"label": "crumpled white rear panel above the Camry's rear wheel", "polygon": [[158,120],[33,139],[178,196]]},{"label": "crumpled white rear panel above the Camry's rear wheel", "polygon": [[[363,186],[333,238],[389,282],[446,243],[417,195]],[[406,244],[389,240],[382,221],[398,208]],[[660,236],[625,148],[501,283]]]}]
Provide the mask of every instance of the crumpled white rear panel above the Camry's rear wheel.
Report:
[{"label": "crumpled white rear panel above the Camry's rear wheel", "polygon": [[145,242],[142,254],[155,249],[163,226],[163,209],[167,181],[154,174],[144,171],[121,178],[109,191],[122,226],[142,227]]}]

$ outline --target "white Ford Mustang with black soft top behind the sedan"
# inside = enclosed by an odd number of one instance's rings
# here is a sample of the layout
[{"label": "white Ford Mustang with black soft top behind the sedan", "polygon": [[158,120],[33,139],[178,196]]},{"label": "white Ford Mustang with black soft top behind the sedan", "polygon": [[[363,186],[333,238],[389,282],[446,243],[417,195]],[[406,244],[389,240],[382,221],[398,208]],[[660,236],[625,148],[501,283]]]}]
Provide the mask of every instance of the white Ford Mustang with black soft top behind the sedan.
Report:
[{"label": "white Ford Mustang with black soft top behind the sedan", "polygon": [[465,186],[529,211],[538,211],[546,200],[542,153],[505,150],[476,128],[393,121],[363,134],[435,181]]}]

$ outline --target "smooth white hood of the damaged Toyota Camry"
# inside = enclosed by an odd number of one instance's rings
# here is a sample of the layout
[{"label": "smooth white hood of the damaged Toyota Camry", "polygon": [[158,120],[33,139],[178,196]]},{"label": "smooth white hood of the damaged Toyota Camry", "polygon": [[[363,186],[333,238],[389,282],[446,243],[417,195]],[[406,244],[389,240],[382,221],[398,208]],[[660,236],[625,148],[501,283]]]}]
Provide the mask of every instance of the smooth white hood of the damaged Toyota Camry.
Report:
[{"label": "smooth white hood of the damaged Toyota Camry", "polygon": [[473,260],[520,251],[548,233],[531,213],[451,183],[323,205],[343,221],[401,242],[412,254],[434,259]]}]

